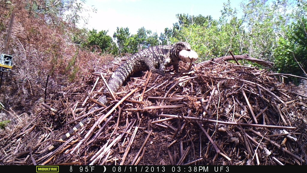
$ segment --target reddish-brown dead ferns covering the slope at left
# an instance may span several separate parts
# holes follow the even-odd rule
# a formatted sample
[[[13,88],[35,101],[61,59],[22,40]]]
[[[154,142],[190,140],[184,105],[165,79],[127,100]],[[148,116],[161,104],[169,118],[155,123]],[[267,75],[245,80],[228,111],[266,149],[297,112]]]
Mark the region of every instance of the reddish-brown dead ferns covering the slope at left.
[[[10,2],[0,0],[0,53],[13,56],[13,71],[3,75],[0,90],[1,107],[15,113],[1,110],[0,122],[10,121],[6,130],[24,126],[33,119],[35,105],[44,99],[48,75],[47,95],[99,71],[103,64],[113,59],[107,54],[99,55],[98,51],[80,49],[72,41],[76,28],[67,26],[61,19],[44,20],[44,14],[34,14],[27,8],[27,1],[15,0],[14,5]],[[8,52],[3,52],[13,11],[15,17],[7,43]]]

